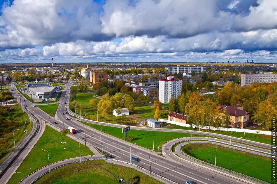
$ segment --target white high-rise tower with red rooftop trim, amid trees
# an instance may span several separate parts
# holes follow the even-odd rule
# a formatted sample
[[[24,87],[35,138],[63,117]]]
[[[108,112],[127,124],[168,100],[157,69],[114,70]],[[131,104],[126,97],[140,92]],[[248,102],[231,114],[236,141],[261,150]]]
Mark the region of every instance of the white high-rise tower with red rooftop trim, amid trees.
[[[159,101],[161,103],[169,103],[172,97],[176,99],[181,94],[182,79],[166,76],[166,79],[159,80]]]

